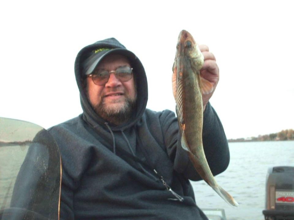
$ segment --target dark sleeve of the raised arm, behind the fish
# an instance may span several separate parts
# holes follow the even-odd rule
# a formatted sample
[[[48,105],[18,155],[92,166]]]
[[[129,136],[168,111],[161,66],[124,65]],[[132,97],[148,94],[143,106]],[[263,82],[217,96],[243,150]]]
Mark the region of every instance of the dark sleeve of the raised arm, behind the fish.
[[[202,180],[190,162],[187,151],[181,146],[181,134],[173,112],[164,117],[162,129],[168,155],[174,161],[174,170],[188,179]],[[213,175],[225,171],[230,160],[228,141],[220,119],[210,103],[206,105],[203,115],[202,139],[205,156]]]

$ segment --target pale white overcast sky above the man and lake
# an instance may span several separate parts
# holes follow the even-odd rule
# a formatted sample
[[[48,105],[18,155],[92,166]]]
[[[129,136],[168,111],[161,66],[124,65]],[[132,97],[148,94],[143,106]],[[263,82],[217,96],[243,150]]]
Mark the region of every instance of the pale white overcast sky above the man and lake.
[[[291,1],[2,1],[0,117],[49,128],[81,114],[74,61],[115,37],[145,67],[147,108],[175,111],[171,68],[179,32],[220,68],[211,105],[227,138],[294,129]]]

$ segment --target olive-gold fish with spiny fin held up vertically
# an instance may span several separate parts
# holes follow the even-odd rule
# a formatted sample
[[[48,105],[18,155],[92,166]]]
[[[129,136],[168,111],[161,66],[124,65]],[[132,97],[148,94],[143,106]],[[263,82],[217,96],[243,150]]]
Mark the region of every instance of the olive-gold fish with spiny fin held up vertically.
[[[203,103],[202,94],[213,91],[213,84],[200,75],[204,57],[192,35],[182,30],[179,34],[175,61],[172,67],[176,74],[176,113],[181,145],[202,179],[211,186],[228,204],[238,206],[234,198],[220,187],[207,163],[203,143]]]

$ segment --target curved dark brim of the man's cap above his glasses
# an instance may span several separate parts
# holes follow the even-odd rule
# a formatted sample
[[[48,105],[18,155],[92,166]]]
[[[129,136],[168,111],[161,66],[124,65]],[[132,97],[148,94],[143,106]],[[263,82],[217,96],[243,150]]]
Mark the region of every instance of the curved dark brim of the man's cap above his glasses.
[[[85,61],[85,66],[89,65],[89,67],[85,70],[85,75],[90,75],[104,57],[113,53],[126,56],[130,59],[131,62],[137,59],[133,52],[123,48],[114,48],[111,50],[101,51],[100,53],[96,53],[95,55],[89,57],[88,60]]]

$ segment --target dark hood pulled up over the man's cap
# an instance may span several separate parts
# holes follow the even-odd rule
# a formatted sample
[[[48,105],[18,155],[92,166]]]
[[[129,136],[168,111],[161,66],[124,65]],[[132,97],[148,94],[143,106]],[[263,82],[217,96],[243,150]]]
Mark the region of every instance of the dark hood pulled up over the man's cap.
[[[145,111],[147,100],[148,100],[148,86],[147,86],[146,73],[138,57],[136,57],[134,53],[126,50],[126,47],[123,46],[115,38],[109,38],[109,39],[97,41],[80,50],[75,60],[74,71],[75,71],[77,86],[80,91],[81,106],[83,109],[83,118],[93,127],[97,127],[98,125],[104,126],[104,123],[106,121],[102,119],[100,116],[98,116],[96,112],[93,110],[91,104],[88,101],[87,95],[85,94],[85,91],[83,89],[83,81],[85,80],[85,77],[86,77],[84,74],[85,70],[83,67],[83,63],[90,56],[90,54],[93,53],[93,51],[98,50],[100,48],[114,49],[113,53],[121,53],[123,55],[126,55],[126,57],[128,57],[131,61],[130,64],[133,68],[134,77],[136,78],[135,81],[137,84],[136,85],[137,86],[137,102],[136,102],[136,109],[133,112],[130,120],[118,126],[109,124],[111,126],[111,130],[113,131],[124,130],[136,124]],[[130,57],[131,55],[133,55],[133,57]]]

